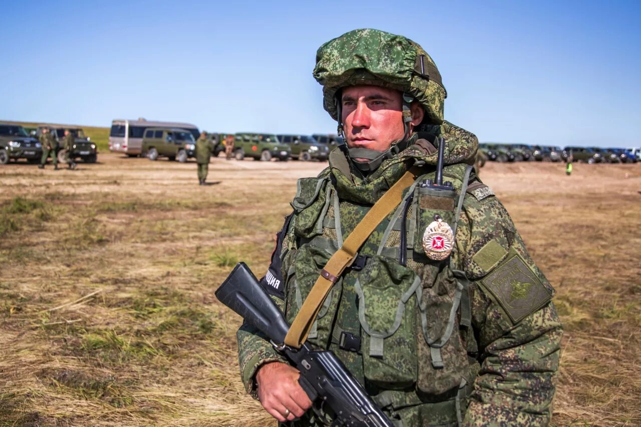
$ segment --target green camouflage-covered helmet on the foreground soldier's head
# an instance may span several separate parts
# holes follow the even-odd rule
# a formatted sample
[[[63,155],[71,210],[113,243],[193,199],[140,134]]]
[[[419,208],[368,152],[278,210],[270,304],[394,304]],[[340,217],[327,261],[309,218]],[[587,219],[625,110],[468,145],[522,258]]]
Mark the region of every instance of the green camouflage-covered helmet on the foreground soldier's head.
[[[354,29],[316,53],[314,78],[323,86],[325,110],[338,121],[338,90],[375,85],[400,90],[423,106],[427,121],[443,122],[447,92],[432,58],[409,38],[378,29]]]

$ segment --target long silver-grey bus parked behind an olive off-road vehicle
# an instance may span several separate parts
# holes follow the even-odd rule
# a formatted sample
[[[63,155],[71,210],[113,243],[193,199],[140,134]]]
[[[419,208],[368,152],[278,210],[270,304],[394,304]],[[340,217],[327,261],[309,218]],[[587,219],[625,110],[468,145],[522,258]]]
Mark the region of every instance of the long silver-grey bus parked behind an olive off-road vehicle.
[[[139,156],[142,152],[142,136],[147,128],[180,128],[194,135],[194,140],[200,137],[198,127],[191,123],[152,122],[142,118],[115,119],[109,132],[109,151],[125,153],[129,157]]]

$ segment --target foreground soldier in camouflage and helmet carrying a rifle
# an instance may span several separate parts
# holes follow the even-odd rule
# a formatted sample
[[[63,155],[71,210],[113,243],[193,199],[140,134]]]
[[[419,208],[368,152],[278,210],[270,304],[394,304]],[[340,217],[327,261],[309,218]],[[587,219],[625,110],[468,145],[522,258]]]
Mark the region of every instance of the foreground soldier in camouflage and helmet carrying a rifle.
[[[330,40],[316,61],[346,145],[299,180],[261,280],[292,324],[285,343],[331,349],[395,425],[547,425],[562,337],[553,289],[472,171],[478,139],[443,120],[434,62],[374,29]],[[451,186],[433,185],[439,138]],[[390,213],[354,231],[364,243],[353,262],[329,264],[376,210]],[[323,280],[326,298],[310,296]],[[331,418],[310,410],[298,371],[258,331],[241,326],[238,351],[247,391],[279,422]]]

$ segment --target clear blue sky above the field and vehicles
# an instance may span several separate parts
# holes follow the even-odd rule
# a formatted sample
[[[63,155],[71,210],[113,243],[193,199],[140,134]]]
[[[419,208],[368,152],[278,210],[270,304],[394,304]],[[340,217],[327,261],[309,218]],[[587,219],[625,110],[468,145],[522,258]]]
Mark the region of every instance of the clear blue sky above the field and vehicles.
[[[434,58],[481,141],[641,146],[641,1],[11,1],[0,119],[328,133],[316,49],[354,28]]]

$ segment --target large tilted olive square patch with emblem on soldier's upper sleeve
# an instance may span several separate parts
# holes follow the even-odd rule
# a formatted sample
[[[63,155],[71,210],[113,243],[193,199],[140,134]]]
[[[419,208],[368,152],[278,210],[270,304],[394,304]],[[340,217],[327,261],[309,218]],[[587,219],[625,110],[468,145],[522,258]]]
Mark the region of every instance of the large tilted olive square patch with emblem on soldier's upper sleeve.
[[[510,316],[513,324],[545,306],[552,298],[538,275],[521,256],[510,249],[508,256],[481,284]]]

